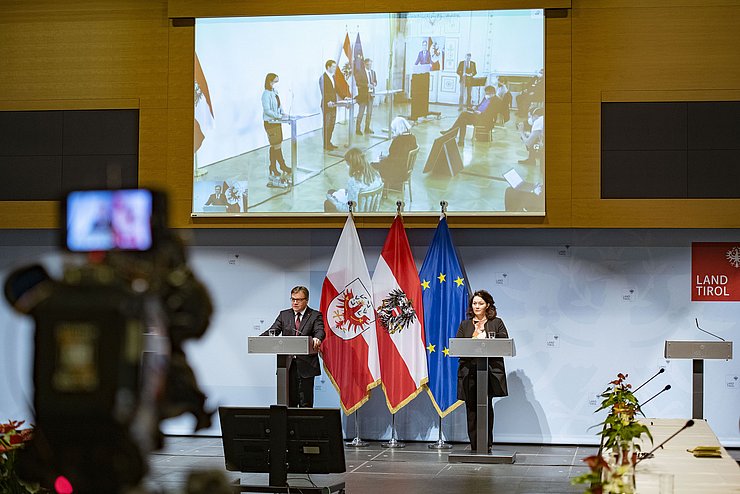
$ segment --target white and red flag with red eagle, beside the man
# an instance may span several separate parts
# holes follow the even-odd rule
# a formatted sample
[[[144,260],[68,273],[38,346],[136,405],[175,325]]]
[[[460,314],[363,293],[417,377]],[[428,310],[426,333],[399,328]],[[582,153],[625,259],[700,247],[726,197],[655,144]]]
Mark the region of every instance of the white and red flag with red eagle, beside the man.
[[[347,415],[360,408],[370,390],[380,384],[373,307],[370,275],[350,215],[321,288],[327,327],[321,354]]]

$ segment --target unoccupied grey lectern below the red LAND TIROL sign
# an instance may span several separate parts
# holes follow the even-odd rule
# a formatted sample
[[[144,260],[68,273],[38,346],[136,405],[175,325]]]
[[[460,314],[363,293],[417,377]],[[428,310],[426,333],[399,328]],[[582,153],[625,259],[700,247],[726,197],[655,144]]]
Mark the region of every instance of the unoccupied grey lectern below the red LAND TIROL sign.
[[[693,398],[691,418],[703,419],[704,415],[704,360],[731,360],[731,341],[678,341],[666,340],[664,356],[667,359],[693,360]]]

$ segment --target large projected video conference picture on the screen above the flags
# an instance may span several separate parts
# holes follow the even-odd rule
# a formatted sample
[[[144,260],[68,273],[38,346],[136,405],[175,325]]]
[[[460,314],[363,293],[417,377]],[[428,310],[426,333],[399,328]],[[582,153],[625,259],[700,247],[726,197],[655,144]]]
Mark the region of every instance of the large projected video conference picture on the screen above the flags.
[[[194,214],[545,213],[542,10],[198,19]]]

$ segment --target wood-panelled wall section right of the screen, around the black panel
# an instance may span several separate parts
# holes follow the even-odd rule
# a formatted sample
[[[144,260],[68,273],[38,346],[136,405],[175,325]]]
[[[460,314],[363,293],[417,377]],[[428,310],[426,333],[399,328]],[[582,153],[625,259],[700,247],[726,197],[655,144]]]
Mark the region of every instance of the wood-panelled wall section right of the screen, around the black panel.
[[[575,227],[740,226],[738,200],[602,200],[602,101],[736,100],[740,2],[574,0]]]

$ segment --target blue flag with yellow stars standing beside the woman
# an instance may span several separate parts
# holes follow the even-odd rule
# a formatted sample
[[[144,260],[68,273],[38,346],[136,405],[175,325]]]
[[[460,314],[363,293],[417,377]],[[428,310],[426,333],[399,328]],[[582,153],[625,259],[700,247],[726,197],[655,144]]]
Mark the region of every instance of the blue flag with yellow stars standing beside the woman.
[[[449,350],[468,307],[468,286],[442,218],[419,272],[424,301],[429,382],[427,390],[440,417],[463,404],[457,399],[457,357]]]

